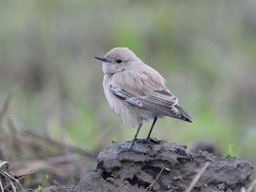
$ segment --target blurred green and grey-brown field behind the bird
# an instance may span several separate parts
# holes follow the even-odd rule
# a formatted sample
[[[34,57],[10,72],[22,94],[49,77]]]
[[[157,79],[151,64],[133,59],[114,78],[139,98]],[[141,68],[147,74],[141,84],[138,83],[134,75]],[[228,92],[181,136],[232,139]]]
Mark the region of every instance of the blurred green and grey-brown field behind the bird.
[[[160,119],[153,137],[188,150],[209,141],[223,155],[231,144],[234,156],[256,166],[255,6],[255,1],[0,1],[1,108],[17,89],[0,134],[10,131],[11,118],[16,129],[27,127],[87,151],[131,140],[136,129],[110,110],[102,63],[93,58],[128,47],[162,74],[193,117],[193,124]],[[143,124],[138,138],[147,136],[150,125]],[[29,146],[23,151],[20,160],[36,157]]]

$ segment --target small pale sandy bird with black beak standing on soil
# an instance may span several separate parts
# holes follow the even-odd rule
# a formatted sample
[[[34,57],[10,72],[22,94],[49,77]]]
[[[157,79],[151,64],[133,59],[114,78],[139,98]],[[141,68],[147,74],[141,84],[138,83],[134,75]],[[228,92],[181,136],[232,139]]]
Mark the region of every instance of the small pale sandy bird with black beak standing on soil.
[[[131,50],[116,47],[102,61],[104,72],[103,88],[111,109],[127,125],[139,125],[129,150],[132,149],[143,120],[154,122],[157,118],[172,116],[192,122],[191,116],[178,104],[178,99],[166,88],[164,78],[141,61]]]

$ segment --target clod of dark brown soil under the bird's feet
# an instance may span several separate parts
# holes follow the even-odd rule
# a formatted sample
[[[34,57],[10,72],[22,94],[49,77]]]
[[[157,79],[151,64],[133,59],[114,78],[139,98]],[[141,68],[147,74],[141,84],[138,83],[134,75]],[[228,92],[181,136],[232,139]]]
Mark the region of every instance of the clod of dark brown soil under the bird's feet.
[[[185,145],[151,141],[154,145],[136,141],[132,152],[122,152],[131,141],[112,143],[100,152],[95,172],[88,173],[72,191],[145,191],[162,164],[170,172],[163,171],[152,190],[184,191],[207,161],[211,164],[192,191],[240,191],[248,187],[253,167],[244,159],[208,152],[186,154]]]

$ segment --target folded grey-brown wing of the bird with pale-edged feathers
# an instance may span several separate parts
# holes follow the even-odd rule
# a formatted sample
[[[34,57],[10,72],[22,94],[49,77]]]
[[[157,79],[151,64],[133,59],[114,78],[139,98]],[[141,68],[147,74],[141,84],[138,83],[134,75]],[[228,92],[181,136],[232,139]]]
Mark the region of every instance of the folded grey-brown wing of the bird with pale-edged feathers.
[[[147,109],[157,115],[172,116],[180,120],[191,121],[191,117],[178,104],[178,99],[169,90],[155,90],[150,95],[136,96],[127,92],[124,88],[119,88],[111,83],[109,86],[111,92],[119,99],[125,100],[133,106]]]

